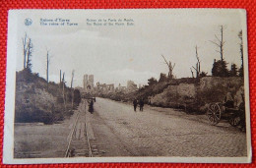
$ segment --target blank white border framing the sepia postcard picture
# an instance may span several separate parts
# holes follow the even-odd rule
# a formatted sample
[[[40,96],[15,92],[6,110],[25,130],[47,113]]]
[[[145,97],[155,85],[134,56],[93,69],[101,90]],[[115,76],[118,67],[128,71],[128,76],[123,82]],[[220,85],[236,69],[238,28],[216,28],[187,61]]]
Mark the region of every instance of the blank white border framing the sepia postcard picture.
[[[77,157],[77,158],[32,158],[15,159],[14,149],[14,112],[15,112],[15,83],[16,83],[16,55],[17,49],[17,15],[20,12],[46,11],[46,10],[10,10],[8,17],[8,45],[7,45],[7,73],[6,73],[6,94],[5,94],[5,116],[4,116],[4,146],[3,163],[4,164],[35,164],[35,163],[98,163],[98,162],[173,162],[173,163],[250,163],[252,159],[251,149],[251,129],[250,129],[250,104],[249,104],[249,75],[248,75],[248,48],[247,48],[247,26],[246,11],[243,9],[121,9],[121,10],[86,10],[98,13],[115,13],[125,11],[184,11],[191,10],[239,10],[242,18],[243,44],[244,44],[244,90],[245,90],[245,108],[246,108],[246,140],[247,157]],[[54,11],[54,10],[51,10]],[[65,10],[75,11],[75,10]],[[80,10],[78,10],[80,11]],[[8,133],[8,134],[7,134]]]

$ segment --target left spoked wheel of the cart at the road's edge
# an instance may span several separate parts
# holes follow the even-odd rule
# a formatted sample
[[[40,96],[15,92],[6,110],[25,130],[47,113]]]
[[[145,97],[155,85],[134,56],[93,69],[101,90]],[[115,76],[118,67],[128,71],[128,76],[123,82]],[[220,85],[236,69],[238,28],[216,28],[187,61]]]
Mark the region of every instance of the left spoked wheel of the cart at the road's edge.
[[[222,116],[222,108],[218,103],[210,104],[207,110],[208,120],[212,125],[217,125]]]

